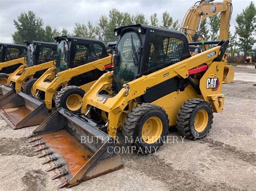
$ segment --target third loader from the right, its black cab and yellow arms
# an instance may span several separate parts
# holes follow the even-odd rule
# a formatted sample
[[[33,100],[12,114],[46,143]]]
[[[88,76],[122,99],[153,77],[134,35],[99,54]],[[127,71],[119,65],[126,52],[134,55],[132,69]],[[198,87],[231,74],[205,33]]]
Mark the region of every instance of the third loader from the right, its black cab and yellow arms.
[[[57,50],[56,43],[45,43],[41,41],[26,42],[26,64],[20,66],[8,78],[8,86],[15,89],[16,93],[23,91],[31,95],[33,83],[54,66],[54,54]]]

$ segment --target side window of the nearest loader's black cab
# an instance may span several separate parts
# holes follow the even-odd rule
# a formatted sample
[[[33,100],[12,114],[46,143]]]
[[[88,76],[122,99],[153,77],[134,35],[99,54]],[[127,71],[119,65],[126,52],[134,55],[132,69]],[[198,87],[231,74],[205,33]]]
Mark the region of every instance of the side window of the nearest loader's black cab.
[[[184,43],[180,39],[156,36],[151,42],[147,70],[161,69],[181,60]]]

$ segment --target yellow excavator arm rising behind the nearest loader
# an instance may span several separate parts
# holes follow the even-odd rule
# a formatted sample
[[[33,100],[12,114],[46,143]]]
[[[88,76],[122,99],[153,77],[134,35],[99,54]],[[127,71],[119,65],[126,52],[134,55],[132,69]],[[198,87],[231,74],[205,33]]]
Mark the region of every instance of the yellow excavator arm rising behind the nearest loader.
[[[232,0],[224,0],[223,2],[205,0],[200,1],[199,4],[196,3],[187,11],[181,25],[181,31],[187,35],[189,42],[200,41],[195,34],[198,34],[201,22],[218,13],[220,13],[219,40],[227,40],[232,14]]]

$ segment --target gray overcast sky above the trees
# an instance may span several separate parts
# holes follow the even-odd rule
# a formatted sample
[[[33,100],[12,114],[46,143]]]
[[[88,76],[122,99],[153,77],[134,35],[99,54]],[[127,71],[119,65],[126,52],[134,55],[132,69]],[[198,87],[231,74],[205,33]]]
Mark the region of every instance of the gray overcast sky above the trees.
[[[174,19],[181,23],[186,11],[197,0],[0,0],[0,42],[12,43],[11,34],[16,29],[14,19],[21,12],[31,10],[38,17],[43,18],[44,26],[50,25],[54,29],[62,30],[63,27],[73,32],[76,22],[96,24],[100,15],[108,15],[109,10],[116,8],[133,15],[144,13],[147,20],[154,12],[158,14],[161,21],[161,13],[168,11]],[[221,0],[218,0],[221,1]],[[234,31],[235,17],[245,9],[250,2],[255,0],[233,0],[233,15],[231,20],[231,31]]]

